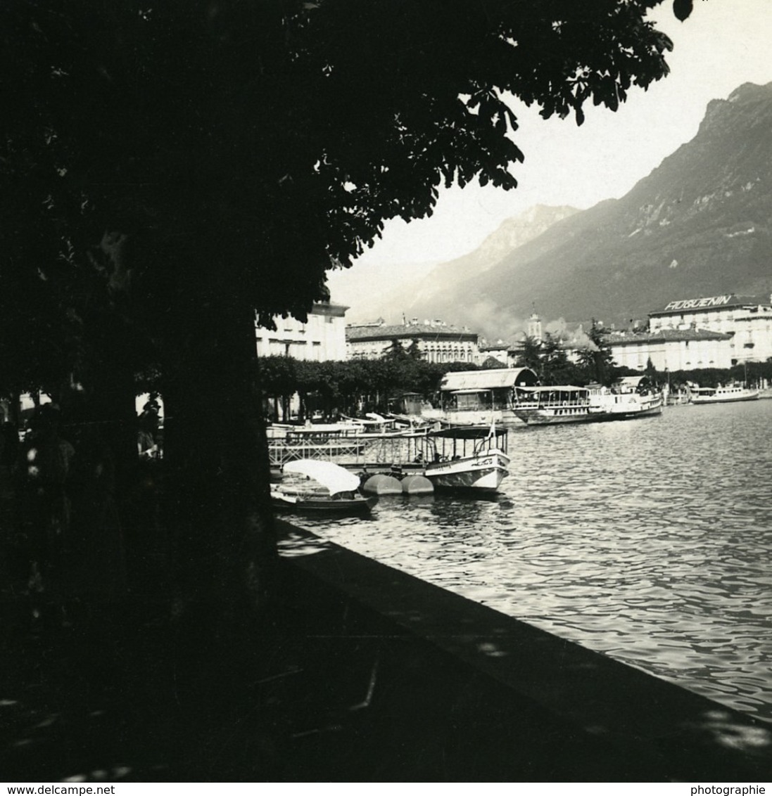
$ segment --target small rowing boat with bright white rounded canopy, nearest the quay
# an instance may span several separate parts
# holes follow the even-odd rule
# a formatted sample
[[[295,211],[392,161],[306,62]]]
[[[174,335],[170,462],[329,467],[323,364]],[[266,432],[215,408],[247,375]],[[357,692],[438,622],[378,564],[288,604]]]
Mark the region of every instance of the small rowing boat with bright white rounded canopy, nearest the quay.
[[[359,492],[358,475],[334,462],[299,459],[287,462],[283,473],[290,478],[271,485],[271,503],[275,509],[363,514],[369,513],[376,501]]]

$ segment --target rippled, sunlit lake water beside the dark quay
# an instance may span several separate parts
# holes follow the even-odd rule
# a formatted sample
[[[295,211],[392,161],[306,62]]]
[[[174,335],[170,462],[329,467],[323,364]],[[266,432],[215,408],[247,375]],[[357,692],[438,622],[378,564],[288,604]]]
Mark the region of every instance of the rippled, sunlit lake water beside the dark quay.
[[[494,501],[323,537],[772,721],[772,400],[512,431]]]

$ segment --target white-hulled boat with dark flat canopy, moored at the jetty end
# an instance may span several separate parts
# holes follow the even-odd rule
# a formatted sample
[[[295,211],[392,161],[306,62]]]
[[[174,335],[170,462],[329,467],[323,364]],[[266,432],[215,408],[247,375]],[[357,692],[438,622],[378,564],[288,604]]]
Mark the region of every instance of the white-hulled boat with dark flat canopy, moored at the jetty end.
[[[409,435],[409,458],[435,490],[495,493],[506,478],[507,431],[491,426],[457,426]]]

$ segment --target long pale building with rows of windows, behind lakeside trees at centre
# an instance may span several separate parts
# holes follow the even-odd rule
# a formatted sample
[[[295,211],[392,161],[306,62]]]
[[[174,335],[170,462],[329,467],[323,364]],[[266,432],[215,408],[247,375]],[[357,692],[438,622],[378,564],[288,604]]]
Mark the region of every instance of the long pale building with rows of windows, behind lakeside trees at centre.
[[[380,359],[395,342],[405,350],[417,345],[421,358],[428,362],[477,360],[477,335],[466,327],[458,329],[439,320],[419,323],[413,318],[410,322],[387,326],[381,319],[346,329],[349,359]]]

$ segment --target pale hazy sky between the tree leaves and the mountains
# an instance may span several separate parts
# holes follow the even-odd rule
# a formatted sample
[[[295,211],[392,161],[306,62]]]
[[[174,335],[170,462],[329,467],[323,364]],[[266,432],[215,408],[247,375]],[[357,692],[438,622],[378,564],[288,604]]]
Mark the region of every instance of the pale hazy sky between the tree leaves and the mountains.
[[[582,127],[515,105],[515,141],[525,154],[512,168],[519,187],[449,189],[430,219],[390,222],[350,274],[331,274],[333,300],[354,303],[362,277],[377,279],[384,266],[445,262],[470,252],[505,218],[533,205],[586,209],[624,196],[696,135],[710,100],[726,99],[743,83],[772,82],[772,0],[695,0],[694,6],[685,22],[673,17],[671,0],[657,9],[659,27],[674,45],[666,78],[647,92],[631,89],[616,113],[590,103]]]

